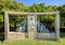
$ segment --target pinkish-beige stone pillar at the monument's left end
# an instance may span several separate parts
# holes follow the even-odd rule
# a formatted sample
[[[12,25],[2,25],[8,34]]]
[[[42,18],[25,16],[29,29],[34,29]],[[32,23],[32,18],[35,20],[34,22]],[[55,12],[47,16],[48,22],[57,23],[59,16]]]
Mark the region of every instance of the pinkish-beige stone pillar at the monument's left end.
[[[4,40],[8,40],[9,33],[9,15],[8,12],[4,12]]]

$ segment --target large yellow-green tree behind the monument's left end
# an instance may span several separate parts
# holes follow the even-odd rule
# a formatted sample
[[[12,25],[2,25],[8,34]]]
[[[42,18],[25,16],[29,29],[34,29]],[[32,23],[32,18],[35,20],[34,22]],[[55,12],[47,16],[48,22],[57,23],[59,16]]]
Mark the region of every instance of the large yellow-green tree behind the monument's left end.
[[[0,0],[0,29],[4,27],[4,11],[21,11],[26,12],[28,10],[23,3],[18,3],[15,0]],[[14,24],[14,17],[11,17],[10,26]],[[1,27],[2,26],[2,27]],[[3,29],[3,28],[2,28]],[[1,29],[1,30],[2,30]]]

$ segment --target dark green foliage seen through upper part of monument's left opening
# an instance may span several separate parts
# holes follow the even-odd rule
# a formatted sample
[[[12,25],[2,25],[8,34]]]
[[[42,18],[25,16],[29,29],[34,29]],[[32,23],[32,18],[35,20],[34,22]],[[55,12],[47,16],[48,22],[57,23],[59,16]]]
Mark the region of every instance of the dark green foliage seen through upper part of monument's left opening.
[[[10,26],[14,27],[14,25],[16,24],[22,24],[24,21],[24,19],[26,18],[26,16],[9,16],[10,18]]]

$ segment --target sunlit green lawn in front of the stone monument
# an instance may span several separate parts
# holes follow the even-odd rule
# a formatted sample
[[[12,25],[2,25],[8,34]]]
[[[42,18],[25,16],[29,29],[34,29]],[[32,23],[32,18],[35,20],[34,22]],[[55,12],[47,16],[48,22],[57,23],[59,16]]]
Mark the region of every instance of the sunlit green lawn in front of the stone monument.
[[[65,33],[61,33],[60,41],[36,41],[36,40],[17,40],[2,43],[0,45],[65,45]]]

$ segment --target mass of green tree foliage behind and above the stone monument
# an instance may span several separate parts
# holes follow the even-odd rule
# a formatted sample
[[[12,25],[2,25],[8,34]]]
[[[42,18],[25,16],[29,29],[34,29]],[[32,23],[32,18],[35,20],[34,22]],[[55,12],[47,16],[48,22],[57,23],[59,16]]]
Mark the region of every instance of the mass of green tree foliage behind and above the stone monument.
[[[65,5],[56,6],[56,5],[48,5],[46,6],[44,3],[36,4],[34,3],[30,6],[26,6],[23,3],[16,2],[15,0],[0,0],[0,22],[3,25],[3,16],[4,11],[17,11],[17,12],[52,12],[52,11],[61,11],[61,24],[65,22]],[[21,17],[20,17],[21,18]],[[21,22],[21,19],[17,18],[16,21]],[[20,19],[20,20],[18,20]],[[41,20],[44,19],[47,21],[53,21],[53,16],[43,16]],[[13,26],[15,22],[14,17],[10,17],[10,26]],[[61,25],[61,26],[62,26]]]

